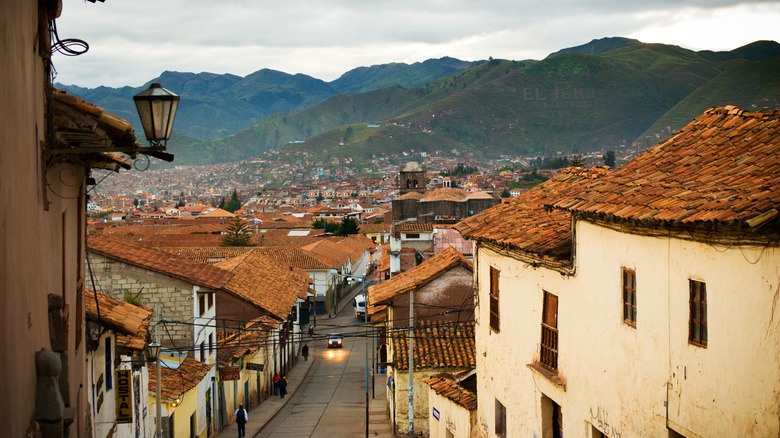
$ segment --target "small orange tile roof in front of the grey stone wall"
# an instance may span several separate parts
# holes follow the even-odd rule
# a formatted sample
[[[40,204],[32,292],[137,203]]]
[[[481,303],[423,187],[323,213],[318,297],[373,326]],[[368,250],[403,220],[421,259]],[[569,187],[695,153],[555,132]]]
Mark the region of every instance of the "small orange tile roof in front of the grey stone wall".
[[[97,295],[97,300],[95,296]],[[116,344],[132,350],[143,350],[152,310],[111,298],[91,290],[84,291],[87,318],[117,333]]]

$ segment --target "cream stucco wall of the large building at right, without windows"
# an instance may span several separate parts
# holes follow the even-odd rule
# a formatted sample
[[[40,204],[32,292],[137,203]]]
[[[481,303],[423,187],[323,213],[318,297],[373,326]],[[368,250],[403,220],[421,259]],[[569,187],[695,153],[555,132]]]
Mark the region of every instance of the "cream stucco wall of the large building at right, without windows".
[[[561,406],[567,437],[588,437],[592,427],[607,436],[666,436],[667,418],[686,436],[777,435],[777,248],[643,237],[584,222],[576,236],[574,276],[479,251],[482,435],[494,433],[498,399],[508,436],[548,436],[542,394]],[[501,270],[498,334],[488,327],[491,265]],[[636,270],[636,328],[623,322],[621,267]],[[689,279],[707,287],[706,348],[688,343]],[[539,358],[544,291],[558,296],[565,389],[526,367]]]

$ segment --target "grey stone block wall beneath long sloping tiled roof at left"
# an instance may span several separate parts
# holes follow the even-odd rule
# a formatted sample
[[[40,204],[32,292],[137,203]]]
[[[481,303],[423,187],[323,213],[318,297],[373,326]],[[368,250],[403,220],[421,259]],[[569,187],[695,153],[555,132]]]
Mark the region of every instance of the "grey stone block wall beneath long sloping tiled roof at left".
[[[144,306],[156,309],[155,306],[159,305],[163,320],[186,323],[160,326],[160,343],[164,347],[192,347],[194,330],[190,324],[195,319],[195,303],[191,283],[92,252],[89,253],[89,263],[99,292],[124,300],[125,292],[129,291],[138,295],[138,300]],[[88,287],[92,288],[92,285],[88,284]],[[155,313],[149,323],[150,333],[156,323]]]

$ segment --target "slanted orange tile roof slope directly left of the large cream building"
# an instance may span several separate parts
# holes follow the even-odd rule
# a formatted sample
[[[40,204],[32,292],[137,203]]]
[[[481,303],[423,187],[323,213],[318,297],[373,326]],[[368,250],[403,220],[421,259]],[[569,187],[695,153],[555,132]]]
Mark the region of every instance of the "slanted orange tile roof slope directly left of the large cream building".
[[[374,309],[375,306],[389,304],[398,295],[417,290],[456,266],[463,266],[468,270],[474,269],[471,261],[450,246],[415,266],[414,269],[401,272],[389,280],[370,286],[368,289],[369,314],[378,311],[378,309]]]

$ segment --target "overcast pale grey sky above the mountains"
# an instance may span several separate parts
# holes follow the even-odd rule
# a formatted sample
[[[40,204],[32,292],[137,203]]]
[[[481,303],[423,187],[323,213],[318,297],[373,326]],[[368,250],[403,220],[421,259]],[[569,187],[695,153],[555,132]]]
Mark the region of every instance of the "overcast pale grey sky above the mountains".
[[[780,1],[63,0],[57,82],[140,86],[165,70],[246,76],[262,68],[331,81],[360,66],[451,56],[543,59],[623,36],[692,50],[780,42]]]

